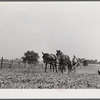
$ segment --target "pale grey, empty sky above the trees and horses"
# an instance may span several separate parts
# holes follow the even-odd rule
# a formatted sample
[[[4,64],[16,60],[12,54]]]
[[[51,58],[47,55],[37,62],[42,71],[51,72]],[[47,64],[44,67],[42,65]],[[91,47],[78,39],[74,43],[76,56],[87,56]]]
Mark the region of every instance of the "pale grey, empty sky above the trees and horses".
[[[100,2],[0,2],[0,56],[27,50],[100,61]]]

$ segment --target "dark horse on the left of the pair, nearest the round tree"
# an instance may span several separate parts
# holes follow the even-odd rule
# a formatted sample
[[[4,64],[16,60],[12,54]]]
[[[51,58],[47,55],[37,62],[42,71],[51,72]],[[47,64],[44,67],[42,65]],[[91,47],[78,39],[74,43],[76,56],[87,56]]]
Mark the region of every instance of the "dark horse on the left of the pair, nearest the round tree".
[[[53,72],[54,69],[56,69],[57,72],[57,67],[56,67],[56,55],[54,54],[48,54],[48,53],[43,53],[43,62],[45,63],[45,72],[47,70],[47,65],[50,64],[50,71],[51,71],[51,66],[53,67]]]

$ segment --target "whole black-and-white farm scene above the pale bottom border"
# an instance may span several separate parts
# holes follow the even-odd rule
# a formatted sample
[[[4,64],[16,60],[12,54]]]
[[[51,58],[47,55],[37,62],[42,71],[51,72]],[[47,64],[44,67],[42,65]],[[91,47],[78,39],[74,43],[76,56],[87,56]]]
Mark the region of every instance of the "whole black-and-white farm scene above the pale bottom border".
[[[100,2],[0,2],[0,89],[100,89]]]

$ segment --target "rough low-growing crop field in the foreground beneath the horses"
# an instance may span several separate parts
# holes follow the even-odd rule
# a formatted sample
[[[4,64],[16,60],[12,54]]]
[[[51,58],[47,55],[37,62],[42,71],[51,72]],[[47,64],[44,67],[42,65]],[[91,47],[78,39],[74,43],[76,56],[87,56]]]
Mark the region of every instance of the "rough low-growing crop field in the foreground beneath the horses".
[[[1,89],[99,89],[100,65],[79,66],[76,73],[44,72],[44,65],[23,65],[0,69]]]

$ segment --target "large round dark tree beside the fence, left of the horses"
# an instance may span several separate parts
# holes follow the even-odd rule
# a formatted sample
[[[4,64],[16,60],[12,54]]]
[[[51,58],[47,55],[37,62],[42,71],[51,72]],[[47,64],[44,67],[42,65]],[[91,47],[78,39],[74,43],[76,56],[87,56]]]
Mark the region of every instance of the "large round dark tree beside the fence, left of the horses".
[[[28,63],[28,64],[33,64],[38,62],[39,59],[39,55],[38,53],[34,52],[34,51],[27,51],[24,53],[24,57],[22,57],[22,60],[24,63]]]

